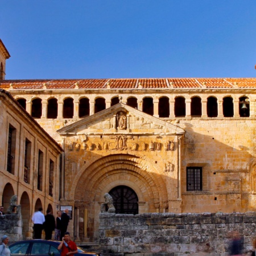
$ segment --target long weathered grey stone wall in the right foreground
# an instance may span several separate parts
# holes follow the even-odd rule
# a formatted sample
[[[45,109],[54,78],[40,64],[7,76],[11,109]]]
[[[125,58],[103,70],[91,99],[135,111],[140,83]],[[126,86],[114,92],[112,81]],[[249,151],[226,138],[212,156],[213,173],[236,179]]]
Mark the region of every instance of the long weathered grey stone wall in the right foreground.
[[[256,213],[100,213],[104,255],[228,255],[231,231],[243,238],[243,251],[253,249]]]

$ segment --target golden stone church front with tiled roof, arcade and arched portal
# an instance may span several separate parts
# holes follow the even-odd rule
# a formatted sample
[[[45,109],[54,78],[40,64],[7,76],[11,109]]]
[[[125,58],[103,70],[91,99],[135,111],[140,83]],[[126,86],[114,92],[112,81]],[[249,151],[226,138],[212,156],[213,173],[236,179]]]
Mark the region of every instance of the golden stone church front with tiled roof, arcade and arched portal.
[[[256,79],[1,80],[64,149],[76,240],[118,213],[255,210]]]

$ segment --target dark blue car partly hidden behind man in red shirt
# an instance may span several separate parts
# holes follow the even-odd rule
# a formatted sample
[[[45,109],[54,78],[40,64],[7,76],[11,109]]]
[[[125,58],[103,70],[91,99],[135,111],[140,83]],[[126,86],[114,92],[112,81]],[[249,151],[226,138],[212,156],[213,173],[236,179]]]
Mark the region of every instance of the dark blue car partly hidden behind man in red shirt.
[[[57,249],[59,241],[50,240],[26,240],[12,243],[9,248],[12,256],[60,256]],[[101,253],[86,253],[80,247],[77,247],[78,253],[75,256],[102,256]]]

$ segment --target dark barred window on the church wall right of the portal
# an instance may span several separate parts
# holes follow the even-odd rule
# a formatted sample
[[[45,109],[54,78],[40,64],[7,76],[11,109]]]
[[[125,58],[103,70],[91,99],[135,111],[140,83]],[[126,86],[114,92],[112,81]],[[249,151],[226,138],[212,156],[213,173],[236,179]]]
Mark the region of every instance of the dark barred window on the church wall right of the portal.
[[[202,167],[187,167],[187,191],[202,191]]]

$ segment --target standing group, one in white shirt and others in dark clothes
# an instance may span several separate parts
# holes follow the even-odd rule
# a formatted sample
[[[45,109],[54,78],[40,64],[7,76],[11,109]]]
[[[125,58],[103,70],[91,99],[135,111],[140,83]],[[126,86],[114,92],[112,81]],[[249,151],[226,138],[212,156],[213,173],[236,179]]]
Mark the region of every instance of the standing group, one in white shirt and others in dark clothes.
[[[64,237],[64,233],[67,232],[69,216],[68,209],[65,209],[63,213],[60,210],[57,211],[57,217],[52,215],[51,210],[47,210],[46,216],[43,214],[43,208],[39,208],[32,217],[34,222],[34,238],[41,239],[42,231],[46,233],[46,240],[52,239],[52,232],[55,230],[55,240],[61,241]]]

